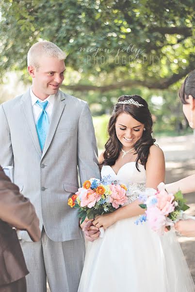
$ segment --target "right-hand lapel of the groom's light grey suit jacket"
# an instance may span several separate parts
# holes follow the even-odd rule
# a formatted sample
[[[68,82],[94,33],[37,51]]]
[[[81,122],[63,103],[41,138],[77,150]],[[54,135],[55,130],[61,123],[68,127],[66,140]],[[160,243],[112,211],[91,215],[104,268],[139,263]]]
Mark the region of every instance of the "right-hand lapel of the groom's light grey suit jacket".
[[[65,94],[63,94],[61,91],[58,91],[58,94],[56,96],[56,100],[53,106],[53,110],[52,110],[52,116],[51,116],[51,120],[49,123],[49,131],[48,131],[48,135],[46,138],[46,142],[45,142],[45,146],[43,148],[43,154],[42,154],[42,158],[44,157],[44,155],[46,154],[51,141],[53,139],[53,136],[55,134],[56,128],[58,126],[58,123],[60,121],[61,115],[63,113],[63,110],[65,108]]]

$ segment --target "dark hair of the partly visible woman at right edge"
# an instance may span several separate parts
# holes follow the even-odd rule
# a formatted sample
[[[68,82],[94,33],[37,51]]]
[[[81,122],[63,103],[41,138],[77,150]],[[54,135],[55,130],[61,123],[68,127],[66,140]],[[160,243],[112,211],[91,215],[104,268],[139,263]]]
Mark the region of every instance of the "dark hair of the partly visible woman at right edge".
[[[189,95],[195,98],[195,70],[188,74],[179,90],[179,98],[183,105],[188,103],[186,99]]]

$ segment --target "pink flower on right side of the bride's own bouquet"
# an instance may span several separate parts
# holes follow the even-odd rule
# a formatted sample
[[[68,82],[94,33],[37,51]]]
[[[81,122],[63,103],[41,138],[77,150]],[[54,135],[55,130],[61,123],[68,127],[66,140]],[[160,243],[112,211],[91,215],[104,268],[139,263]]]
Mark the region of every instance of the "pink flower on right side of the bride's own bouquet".
[[[119,184],[110,184],[109,187],[112,191],[110,203],[112,203],[113,207],[117,209],[119,205],[123,205],[128,200],[126,197],[126,191]]]

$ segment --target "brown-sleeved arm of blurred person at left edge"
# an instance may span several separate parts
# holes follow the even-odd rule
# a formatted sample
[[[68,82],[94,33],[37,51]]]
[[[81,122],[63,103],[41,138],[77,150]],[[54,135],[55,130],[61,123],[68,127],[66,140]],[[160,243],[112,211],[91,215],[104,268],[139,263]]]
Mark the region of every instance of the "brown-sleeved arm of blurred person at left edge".
[[[33,241],[41,237],[39,219],[33,204],[11,183],[0,166],[0,219],[12,227],[26,230]]]

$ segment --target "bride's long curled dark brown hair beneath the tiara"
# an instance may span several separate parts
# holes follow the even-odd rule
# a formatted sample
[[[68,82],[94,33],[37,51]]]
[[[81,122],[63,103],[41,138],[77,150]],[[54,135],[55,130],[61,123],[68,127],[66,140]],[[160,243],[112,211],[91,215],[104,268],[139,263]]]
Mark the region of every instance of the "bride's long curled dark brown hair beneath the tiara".
[[[148,105],[146,100],[144,100],[139,95],[122,95],[118,98],[119,101],[125,101],[132,98],[135,102],[137,101],[139,104],[142,104],[143,107],[137,107],[136,105],[132,104],[116,104],[114,106],[113,114],[109,120],[108,124],[108,134],[109,139],[105,144],[105,151],[103,153],[104,160],[100,164],[100,167],[102,165],[114,165],[115,161],[117,160],[119,153],[122,148],[121,142],[118,140],[116,136],[115,131],[115,123],[116,119],[121,113],[128,113],[131,117],[133,117],[138,122],[144,124],[144,127],[146,128],[145,131],[143,131],[142,137],[134,144],[134,148],[137,154],[136,159],[136,168],[138,171],[138,162],[145,166],[146,168],[146,162],[149,155],[149,148],[154,144],[156,141],[152,138],[152,116],[148,109]]]

